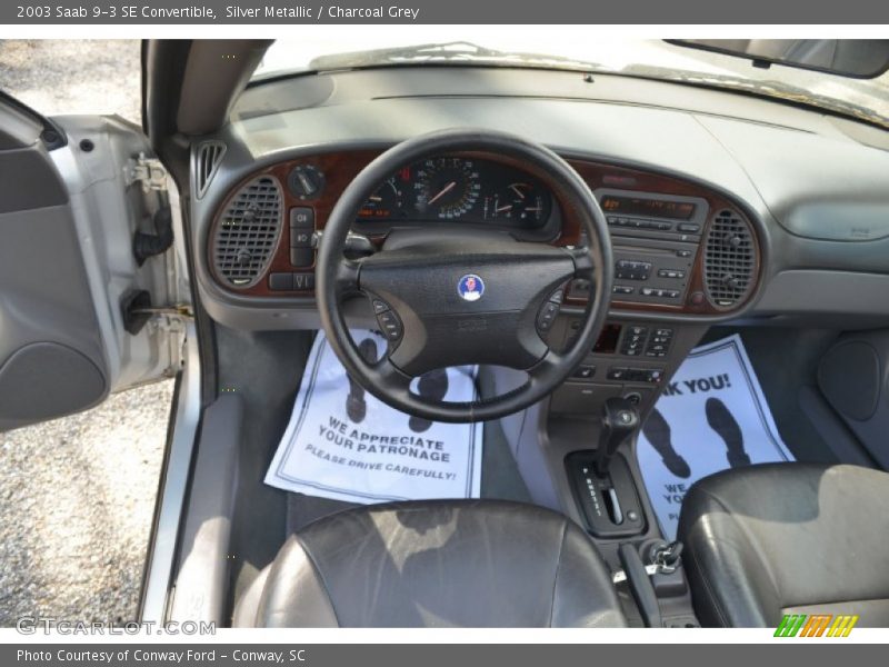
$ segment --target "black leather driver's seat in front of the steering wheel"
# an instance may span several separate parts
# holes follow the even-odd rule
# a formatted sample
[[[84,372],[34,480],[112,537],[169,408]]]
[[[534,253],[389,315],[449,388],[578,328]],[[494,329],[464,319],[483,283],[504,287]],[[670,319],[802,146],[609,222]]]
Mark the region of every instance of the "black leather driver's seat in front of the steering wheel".
[[[530,505],[350,509],[291,536],[239,601],[241,627],[623,627],[587,535]]]

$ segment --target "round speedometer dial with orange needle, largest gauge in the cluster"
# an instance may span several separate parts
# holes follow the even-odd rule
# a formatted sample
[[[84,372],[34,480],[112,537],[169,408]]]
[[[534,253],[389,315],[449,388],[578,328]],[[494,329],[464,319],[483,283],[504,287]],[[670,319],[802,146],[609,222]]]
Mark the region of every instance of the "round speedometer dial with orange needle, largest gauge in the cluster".
[[[479,200],[481,183],[472,160],[430,158],[416,171],[417,211],[441,220],[456,220],[471,211]]]

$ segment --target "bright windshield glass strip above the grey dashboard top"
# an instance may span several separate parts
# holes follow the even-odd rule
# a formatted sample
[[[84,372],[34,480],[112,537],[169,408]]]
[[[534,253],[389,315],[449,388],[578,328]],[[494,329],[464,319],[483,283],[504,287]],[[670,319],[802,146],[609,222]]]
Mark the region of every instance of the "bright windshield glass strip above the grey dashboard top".
[[[669,44],[660,40],[592,38],[587,28],[411,26],[398,30],[318,26],[279,40],[254,80],[287,73],[422,63],[545,67],[622,73],[747,90],[805,102],[889,127],[889,72],[856,80]],[[347,30],[347,28],[350,28]]]

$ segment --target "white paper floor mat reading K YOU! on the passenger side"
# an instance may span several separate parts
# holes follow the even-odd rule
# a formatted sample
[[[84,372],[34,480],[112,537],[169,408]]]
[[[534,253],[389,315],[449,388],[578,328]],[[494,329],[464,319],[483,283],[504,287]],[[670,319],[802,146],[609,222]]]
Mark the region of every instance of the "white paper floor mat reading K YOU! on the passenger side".
[[[739,336],[691,351],[642,426],[637,455],[669,539],[696,480],[727,468],[793,460]]]

